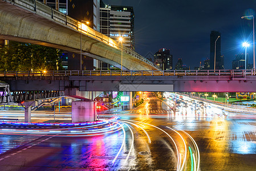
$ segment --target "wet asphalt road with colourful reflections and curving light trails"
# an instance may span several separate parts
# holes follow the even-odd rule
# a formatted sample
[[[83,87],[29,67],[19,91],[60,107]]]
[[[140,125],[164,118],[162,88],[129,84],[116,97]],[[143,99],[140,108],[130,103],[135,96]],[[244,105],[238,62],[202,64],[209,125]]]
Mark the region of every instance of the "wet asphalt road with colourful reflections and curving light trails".
[[[198,161],[199,170],[256,170],[255,115],[193,104],[173,112],[153,94],[144,99],[135,111],[101,115],[120,115],[125,136],[0,132],[0,170],[197,170]]]

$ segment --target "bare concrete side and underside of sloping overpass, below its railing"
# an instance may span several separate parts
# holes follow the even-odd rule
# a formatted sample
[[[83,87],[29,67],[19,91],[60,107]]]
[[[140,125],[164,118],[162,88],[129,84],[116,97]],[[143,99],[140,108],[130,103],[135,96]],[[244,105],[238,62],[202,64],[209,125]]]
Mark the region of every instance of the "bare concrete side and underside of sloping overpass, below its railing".
[[[14,5],[12,3],[0,0],[0,39],[50,46],[80,54],[78,23],[74,23],[74,25],[77,24],[76,28],[68,26],[67,19],[72,21],[68,17],[66,17],[66,25],[56,22],[55,18],[58,17],[56,11],[53,13],[56,13],[56,16],[52,15],[54,19],[51,15],[47,18],[42,12],[42,14],[39,13],[38,9],[41,8],[51,13],[51,8],[38,1],[36,1],[36,11],[25,10],[18,7],[17,3]],[[121,51],[119,48],[111,47],[103,40],[86,34],[82,34],[82,54],[120,67]],[[128,70],[157,70],[127,52],[123,53],[123,67]]]

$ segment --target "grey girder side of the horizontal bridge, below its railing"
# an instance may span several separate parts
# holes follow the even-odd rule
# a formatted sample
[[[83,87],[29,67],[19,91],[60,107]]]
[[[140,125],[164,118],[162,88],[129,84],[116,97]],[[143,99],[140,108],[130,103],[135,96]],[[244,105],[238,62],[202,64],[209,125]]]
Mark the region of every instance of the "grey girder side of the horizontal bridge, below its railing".
[[[256,92],[255,76],[43,76],[1,78],[11,91],[174,91],[174,92]]]

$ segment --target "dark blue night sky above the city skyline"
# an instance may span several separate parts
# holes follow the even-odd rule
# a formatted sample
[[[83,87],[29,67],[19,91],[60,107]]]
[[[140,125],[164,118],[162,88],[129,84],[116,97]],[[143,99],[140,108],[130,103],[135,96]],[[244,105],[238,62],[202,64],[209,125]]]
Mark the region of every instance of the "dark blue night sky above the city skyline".
[[[231,69],[235,55],[245,52],[245,40],[251,43],[247,60],[253,63],[253,19],[241,17],[255,14],[255,0],[103,1],[134,7],[135,51],[140,55],[151,56],[164,47],[173,55],[173,67],[182,58],[193,70],[210,58],[210,31],[216,30],[221,32],[225,69]]]

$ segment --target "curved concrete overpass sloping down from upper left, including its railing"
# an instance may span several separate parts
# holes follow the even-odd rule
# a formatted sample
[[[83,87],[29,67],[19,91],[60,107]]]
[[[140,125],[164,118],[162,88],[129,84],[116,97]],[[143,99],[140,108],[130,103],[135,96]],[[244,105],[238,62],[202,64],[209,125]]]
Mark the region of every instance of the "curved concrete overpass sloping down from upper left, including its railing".
[[[81,29],[82,27],[82,29]],[[121,67],[121,43],[34,0],[0,0],[0,39],[50,46]],[[152,62],[123,47],[123,68],[159,70]],[[78,68],[79,69],[79,68]]]

